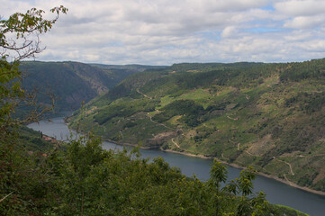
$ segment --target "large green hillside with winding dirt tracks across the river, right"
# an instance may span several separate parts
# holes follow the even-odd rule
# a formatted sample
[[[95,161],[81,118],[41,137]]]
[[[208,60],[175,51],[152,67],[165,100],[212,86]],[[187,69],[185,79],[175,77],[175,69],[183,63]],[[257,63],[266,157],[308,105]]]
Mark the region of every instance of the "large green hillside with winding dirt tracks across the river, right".
[[[325,58],[177,64],[129,76],[71,127],[120,143],[217,157],[325,191]]]

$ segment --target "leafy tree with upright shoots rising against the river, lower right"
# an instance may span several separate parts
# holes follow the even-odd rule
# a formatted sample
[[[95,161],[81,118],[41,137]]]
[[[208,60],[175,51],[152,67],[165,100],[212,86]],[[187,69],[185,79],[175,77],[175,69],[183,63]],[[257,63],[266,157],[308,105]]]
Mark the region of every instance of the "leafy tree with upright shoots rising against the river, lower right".
[[[215,193],[215,214],[218,215],[266,215],[269,212],[266,195],[263,192],[253,195],[255,170],[252,167],[240,172],[239,178],[227,181],[227,168],[213,161],[209,185]],[[225,184],[221,187],[221,184]]]

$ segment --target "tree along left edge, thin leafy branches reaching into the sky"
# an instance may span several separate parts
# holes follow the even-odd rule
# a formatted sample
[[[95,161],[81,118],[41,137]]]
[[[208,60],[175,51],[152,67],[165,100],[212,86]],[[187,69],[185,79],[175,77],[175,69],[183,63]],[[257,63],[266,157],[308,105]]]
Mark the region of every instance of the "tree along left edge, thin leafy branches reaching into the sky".
[[[59,14],[68,9],[59,6],[50,10],[52,20],[43,18],[43,10],[32,8],[25,14],[16,13],[8,19],[0,17],[0,214],[22,215],[32,211],[28,196],[37,185],[35,167],[21,146],[17,145],[17,129],[23,123],[37,121],[40,113],[33,111],[23,121],[13,117],[15,108],[33,98],[21,85],[19,63],[41,52],[40,34],[50,31]],[[23,190],[24,189],[24,190]],[[12,199],[9,199],[12,198]],[[9,201],[10,200],[10,201]],[[14,208],[13,203],[15,203]]]

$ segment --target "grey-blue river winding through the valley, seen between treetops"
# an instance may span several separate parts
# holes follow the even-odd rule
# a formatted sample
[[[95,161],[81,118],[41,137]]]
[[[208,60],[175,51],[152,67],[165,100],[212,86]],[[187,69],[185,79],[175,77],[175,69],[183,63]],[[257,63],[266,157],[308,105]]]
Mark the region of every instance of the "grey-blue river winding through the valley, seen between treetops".
[[[40,123],[32,123],[28,125],[33,130],[40,130],[44,134],[55,137],[60,140],[67,139],[70,135],[67,125],[62,118],[54,118],[51,121],[41,121]],[[77,133],[72,131],[74,136]],[[119,148],[122,146],[111,142],[103,143],[104,149]],[[131,148],[131,147],[127,147]],[[140,149],[141,157],[164,157],[170,166],[177,166],[181,169],[184,175],[196,175],[201,180],[209,178],[210,165],[212,159],[203,159],[199,157],[188,157],[185,155],[163,152],[154,149]],[[228,167],[229,179],[234,179],[239,176],[240,169]],[[312,216],[325,215],[325,196],[302,191],[287,184],[275,181],[274,179],[266,178],[257,175],[254,180],[254,191],[263,191],[266,193],[266,200],[275,204],[290,206],[293,209],[308,213]]]

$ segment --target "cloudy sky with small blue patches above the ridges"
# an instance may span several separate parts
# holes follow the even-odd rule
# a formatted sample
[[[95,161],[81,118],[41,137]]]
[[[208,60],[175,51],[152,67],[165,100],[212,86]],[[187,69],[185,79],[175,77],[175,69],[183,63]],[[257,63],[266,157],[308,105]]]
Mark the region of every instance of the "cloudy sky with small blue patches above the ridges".
[[[0,0],[0,15],[63,4],[42,61],[172,65],[325,57],[324,0]]]

